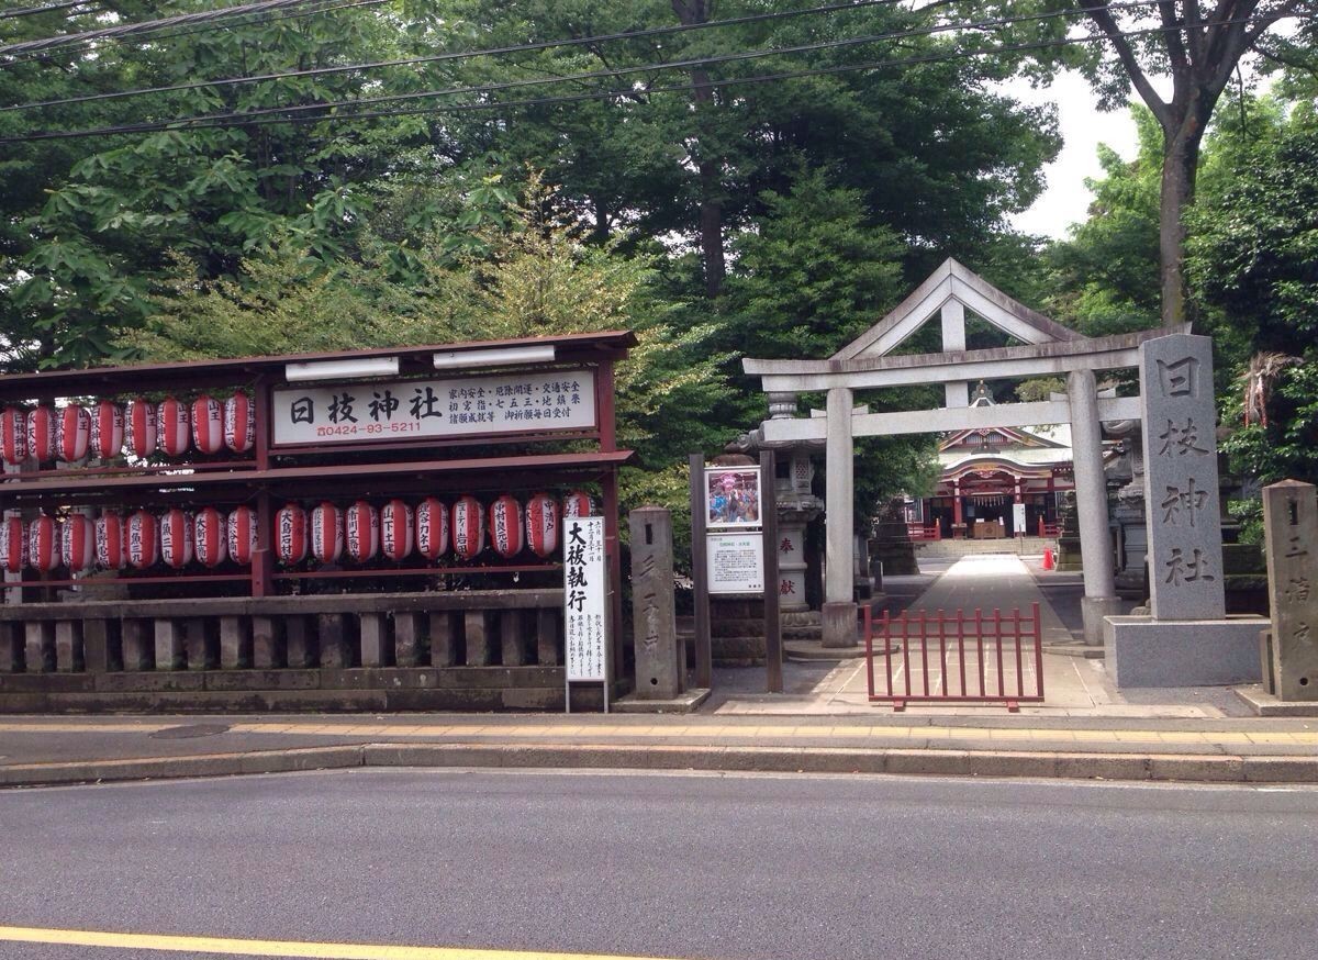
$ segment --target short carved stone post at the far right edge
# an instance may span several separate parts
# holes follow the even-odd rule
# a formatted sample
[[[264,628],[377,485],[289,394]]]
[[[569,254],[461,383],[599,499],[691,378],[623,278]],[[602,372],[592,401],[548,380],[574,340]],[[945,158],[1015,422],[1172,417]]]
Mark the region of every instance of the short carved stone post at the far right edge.
[[[1284,480],[1263,489],[1272,678],[1282,700],[1318,700],[1318,500],[1313,484]]]

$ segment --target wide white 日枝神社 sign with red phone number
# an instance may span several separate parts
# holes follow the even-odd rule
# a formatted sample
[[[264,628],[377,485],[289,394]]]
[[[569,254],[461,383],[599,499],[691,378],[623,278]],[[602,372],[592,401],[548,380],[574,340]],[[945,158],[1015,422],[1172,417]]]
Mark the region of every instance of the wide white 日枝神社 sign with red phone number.
[[[593,430],[594,372],[283,386],[270,422],[275,446]]]

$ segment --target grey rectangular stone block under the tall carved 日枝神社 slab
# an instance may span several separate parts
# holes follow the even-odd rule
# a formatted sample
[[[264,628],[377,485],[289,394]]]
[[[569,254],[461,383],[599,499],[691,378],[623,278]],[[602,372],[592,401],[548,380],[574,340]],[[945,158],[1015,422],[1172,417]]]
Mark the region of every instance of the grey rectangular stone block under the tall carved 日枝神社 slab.
[[[1257,683],[1259,630],[1264,617],[1153,620],[1107,617],[1104,666],[1118,690],[1127,687],[1214,687]]]

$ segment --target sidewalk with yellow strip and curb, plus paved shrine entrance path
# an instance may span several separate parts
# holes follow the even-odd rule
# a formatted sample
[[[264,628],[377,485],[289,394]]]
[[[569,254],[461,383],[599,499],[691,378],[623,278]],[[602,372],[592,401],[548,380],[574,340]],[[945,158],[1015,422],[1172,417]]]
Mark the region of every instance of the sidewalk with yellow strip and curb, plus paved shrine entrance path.
[[[1078,579],[1039,578],[1015,556],[973,556],[919,596],[892,583],[890,597],[928,611],[1037,600],[1045,645],[1069,642]],[[774,695],[758,692],[762,669],[717,671],[716,695],[689,716],[8,717],[0,786],[376,765],[1318,783],[1318,719],[1248,716],[1222,688],[1123,696],[1101,661],[1045,655],[1048,699],[1019,715],[1000,705],[894,713],[866,702],[863,659],[786,667],[787,692]]]

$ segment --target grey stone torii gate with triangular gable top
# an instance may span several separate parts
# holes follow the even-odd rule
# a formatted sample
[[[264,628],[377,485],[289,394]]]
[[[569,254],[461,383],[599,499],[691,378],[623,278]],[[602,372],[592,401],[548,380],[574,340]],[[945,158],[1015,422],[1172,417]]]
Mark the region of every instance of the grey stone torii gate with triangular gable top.
[[[967,351],[966,310],[1025,345]],[[942,352],[892,353],[936,314]],[[1188,324],[1120,336],[1081,336],[1014,301],[956,260],[948,260],[892,313],[828,360],[743,360],[746,373],[760,377],[768,394],[770,419],[760,427],[764,440],[826,444],[824,645],[857,642],[857,605],[851,600],[855,436],[1046,423],[1072,427],[1085,566],[1085,642],[1101,645],[1103,617],[1116,612],[1101,423],[1137,421],[1141,410],[1139,397],[1099,397],[1094,373],[1135,368],[1141,343],[1180,332],[1188,332]],[[1068,398],[970,406],[971,382],[1044,376],[1065,376]],[[870,413],[854,404],[858,389],[925,384],[944,385],[944,406]],[[816,390],[828,393],[826,413],[816,410],[797,417],[797,394]]]

